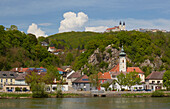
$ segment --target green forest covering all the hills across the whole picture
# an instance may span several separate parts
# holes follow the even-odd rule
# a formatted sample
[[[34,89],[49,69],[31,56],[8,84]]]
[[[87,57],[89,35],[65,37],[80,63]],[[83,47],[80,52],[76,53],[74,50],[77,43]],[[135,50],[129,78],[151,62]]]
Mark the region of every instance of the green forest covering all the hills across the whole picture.
[[[41,42],[49,43],[62,49],[64,54],[53,55]],[[170,69],[170,33],[121,31],[110,33],[95,32],[65,32],[48,37],[39,37],[25,34],[15,25],[10,28],[0,26],[0,70],[10,70],[14,67],[48,67],[71,65],[74,70],[80,70],[88,63],[89,56],[99,48],[101,52],[105,47],[112,45],[120,49],[123,45],[131,63],[128,66],[139,66],[149,59],[155,62],[157,57],[163,62],[157,69],[148,66],[142,68],[144,72],[151,70]],[[85,50],[81,53],[81,50]],[[109,51],[108,51],[109,52]]]

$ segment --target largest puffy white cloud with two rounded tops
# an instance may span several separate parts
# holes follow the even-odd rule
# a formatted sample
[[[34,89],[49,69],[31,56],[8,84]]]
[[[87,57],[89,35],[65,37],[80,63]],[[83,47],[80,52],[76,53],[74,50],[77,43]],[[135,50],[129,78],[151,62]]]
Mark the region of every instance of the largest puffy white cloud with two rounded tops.
[[[63,17],[64,20],[60,22],[59,32],[82,31],[88,21],[88,16],[83,12],[79,12],[77,15],[74,12],[66,12]]]

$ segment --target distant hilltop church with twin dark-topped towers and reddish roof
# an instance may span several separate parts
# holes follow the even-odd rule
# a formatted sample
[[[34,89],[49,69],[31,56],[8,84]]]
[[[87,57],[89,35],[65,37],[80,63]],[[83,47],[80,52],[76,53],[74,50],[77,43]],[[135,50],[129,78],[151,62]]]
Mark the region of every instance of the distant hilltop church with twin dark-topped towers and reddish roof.
[[[125,22],[123,22],[123,25],[122,25],[122,22],[120,21],[119,23],[119,26],[115,26],[113,28],[107,28],[106,29],[106,32],[116,32],[116,31],[125,31]]]

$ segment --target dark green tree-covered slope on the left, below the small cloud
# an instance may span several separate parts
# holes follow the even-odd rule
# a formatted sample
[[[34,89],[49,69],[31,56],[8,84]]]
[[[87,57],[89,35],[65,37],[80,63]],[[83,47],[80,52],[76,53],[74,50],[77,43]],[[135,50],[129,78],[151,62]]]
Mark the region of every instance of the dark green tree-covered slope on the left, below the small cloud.
[[[0,25],[0,71],[58,64],[58,57],[42,47],[35,35],[20,32],[16,26],[7,29]]]

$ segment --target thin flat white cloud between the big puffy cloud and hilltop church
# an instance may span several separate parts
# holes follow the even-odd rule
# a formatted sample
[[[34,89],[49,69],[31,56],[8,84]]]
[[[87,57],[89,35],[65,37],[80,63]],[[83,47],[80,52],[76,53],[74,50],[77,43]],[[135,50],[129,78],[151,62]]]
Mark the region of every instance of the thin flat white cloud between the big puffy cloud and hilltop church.
[[[107,28],[107,26],[86,27],[85,31],[104,32]]]

